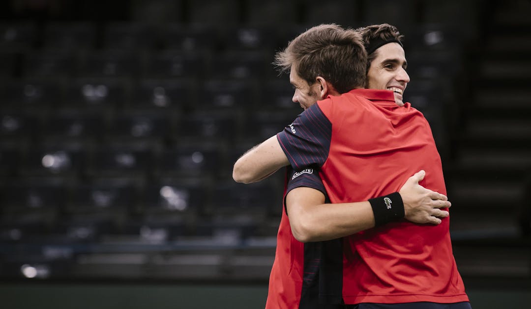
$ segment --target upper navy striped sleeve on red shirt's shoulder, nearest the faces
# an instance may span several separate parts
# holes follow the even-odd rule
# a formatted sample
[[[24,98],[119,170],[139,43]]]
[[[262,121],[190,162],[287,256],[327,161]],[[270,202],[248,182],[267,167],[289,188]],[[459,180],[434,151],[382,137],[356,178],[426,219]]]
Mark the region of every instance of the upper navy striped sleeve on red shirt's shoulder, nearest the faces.
[[[330,152],[332,123],[318,104],[312,105],[277,134],[277,139],[295,170],[321,167]]]

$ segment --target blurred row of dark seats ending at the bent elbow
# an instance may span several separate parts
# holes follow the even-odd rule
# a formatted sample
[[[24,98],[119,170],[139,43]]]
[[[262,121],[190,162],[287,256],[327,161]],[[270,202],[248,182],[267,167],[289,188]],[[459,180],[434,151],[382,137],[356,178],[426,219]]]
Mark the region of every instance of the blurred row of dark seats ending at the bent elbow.
[[[92,148],[82,144],[33,146],[24,152],[7,148],[0,151],[0,172],[21,178],[46,175],[67,178],[98,175],[230,178],[229,166],[234,161],[228,158],[226,150],[219,144],[176,145],[158,151],[152,149],[153,145],[137,143]]]

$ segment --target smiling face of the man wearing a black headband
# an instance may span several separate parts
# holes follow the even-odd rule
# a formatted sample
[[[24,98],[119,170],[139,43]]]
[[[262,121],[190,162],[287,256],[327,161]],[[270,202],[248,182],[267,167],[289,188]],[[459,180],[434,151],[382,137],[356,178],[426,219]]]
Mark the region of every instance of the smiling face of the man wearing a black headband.
[[[409,83],[404,49],[398,43],[388,43],[376,49],[377,56],[367,72],[369,89],[386,89],[395,94],[397,105],[404,105],[402,95]]]

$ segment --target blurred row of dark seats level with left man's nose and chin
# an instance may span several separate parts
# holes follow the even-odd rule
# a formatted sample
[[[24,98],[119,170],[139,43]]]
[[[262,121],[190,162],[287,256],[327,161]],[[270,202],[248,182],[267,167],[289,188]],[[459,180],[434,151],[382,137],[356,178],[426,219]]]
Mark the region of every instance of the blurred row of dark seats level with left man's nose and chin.
[[[287,77],[255,83],[249,80],[79,78],[8,80],[0,86],[0,110],[116,109],[290,109],[293,89]]]

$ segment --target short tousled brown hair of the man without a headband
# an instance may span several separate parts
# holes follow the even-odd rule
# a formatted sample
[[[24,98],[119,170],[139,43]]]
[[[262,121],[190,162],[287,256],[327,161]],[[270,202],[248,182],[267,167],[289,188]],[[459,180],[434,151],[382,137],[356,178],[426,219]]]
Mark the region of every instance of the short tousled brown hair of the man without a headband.
[[[295,65],[297,73],[309,85],[317,76],[340,93],[365,84],[367,52],[361,35],[337,24],[321,24],[299,34],[286,49],[277,52],[273,65],[287,73]]]

